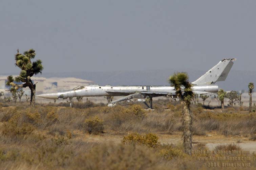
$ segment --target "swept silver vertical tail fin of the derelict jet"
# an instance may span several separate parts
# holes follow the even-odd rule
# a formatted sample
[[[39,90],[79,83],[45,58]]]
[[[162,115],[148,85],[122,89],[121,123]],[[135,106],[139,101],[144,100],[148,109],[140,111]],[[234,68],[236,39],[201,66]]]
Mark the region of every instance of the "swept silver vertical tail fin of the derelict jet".
[[[206,74],[202,75],[199,79],[192,82],[194,85],[198,84],[214,84],[218,81],[225,81],[231,67],[233,66],[233,61],[236,59],[223,59],[217,65],[212,67]]]

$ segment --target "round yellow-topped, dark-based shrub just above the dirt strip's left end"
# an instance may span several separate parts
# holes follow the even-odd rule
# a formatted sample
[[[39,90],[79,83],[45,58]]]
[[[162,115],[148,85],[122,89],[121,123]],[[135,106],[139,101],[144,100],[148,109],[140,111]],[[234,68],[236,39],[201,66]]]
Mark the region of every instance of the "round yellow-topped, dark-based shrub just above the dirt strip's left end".
[[[99,119],[98,116],[95,116],[95,117],[89,118],[89,119],[85,119],[85,126],[86,126],[86,130],[89,132],[89,134],[103,133],[103,130],[104,130],[103,120]]]

